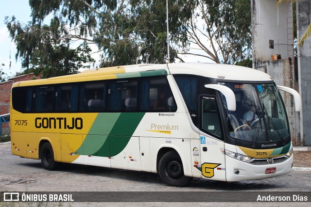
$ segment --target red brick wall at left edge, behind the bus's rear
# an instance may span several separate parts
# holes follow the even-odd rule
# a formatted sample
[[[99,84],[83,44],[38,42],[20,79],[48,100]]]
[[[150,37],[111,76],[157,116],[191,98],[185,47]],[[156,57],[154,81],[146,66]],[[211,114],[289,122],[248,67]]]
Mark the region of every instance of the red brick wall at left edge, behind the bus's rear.
[[[0,82],[0,115],[10,112],[10,96],[13,83],[23,80],[38,79],[34,74],[17,76],[5,82]],[[1,126],[0,126],[1,127]],[[2,135],[10,134],[9,123],[2,124]]]

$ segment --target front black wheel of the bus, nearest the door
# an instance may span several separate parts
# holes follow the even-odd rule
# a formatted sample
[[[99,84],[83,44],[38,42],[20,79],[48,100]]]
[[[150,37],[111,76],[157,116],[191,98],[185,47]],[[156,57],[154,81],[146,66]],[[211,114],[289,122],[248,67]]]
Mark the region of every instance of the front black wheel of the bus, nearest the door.
[[[183,163],[174,150],[163,155],[158,171],[162,181],[169,186],[183,187],[192,180],[192,177],[184,175]]]

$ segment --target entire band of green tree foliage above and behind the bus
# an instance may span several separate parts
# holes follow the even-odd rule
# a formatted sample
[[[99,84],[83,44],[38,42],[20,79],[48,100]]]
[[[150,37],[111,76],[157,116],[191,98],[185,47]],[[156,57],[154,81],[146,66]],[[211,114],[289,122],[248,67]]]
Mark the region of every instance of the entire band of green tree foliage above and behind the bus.
[[[191,20],[206,20],[214,31],[207,45],[213,60],[233,64],[250,51],[249,0],[169,0],[171,62],[178,50],[187,51]],[[52,77],[89,67],[88,44],[101,54],[100,66],[166,63],[167,29],[165,0],[29,0],[32,21],[22,24],[14,16],[5,24],[17,45],[16,59],[28,72]],[[202,12],[198,12],[203,6]],[[44,24],[52,16],[50,24]],[[216,31],[216,32],[215,32]],[[83,41],[72,49],[73,41]],[[210,58],[211,59],[211,58]]]

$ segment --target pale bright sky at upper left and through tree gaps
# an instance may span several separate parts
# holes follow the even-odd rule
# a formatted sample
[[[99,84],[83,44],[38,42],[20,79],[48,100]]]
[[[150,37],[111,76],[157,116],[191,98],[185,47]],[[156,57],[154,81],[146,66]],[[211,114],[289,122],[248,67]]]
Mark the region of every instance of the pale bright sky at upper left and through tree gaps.
[[[4,24],[5,16],[15,16],[20,22],[27,23],[31,20],[31,8],[29,6],[29,0],[1,0],[0,6],[0,64],[2,71],[7,74],[7,76],[12,77],[16,72],[22,72],[21,62],[19,59],[15,59],[15,54],[17,52],[16,45],[12,42],[9,36],[9,32]],[[90,47],[92,47],[90,45]],[[93,46],[94,47],[94,46]],[[97,51],[94,48],[93,51]],[[196,51],[197,52],[197,51]],[[11,58],[10,58],[11,56]],[[97,61],[95,65],[98,65],[99,55],[98,53],[92,55],[92,57]],[[185,62],[208,62],[205,58],[200,58],[198,56],[182,56]],[[9,67],[11,61],[11,68]]]

